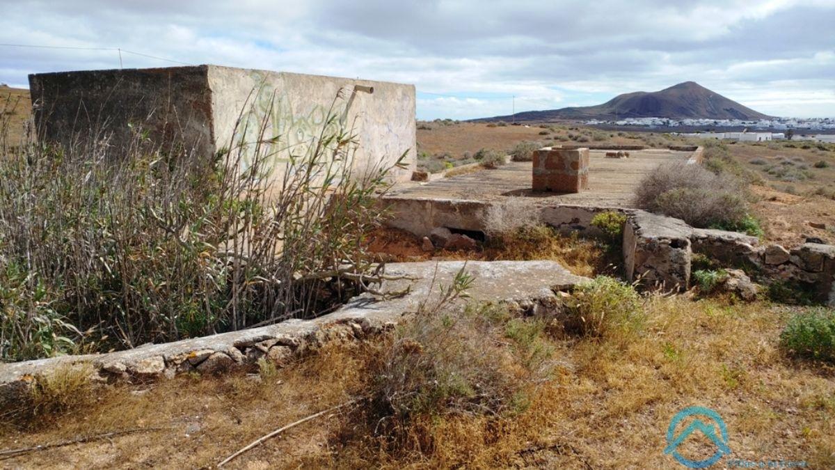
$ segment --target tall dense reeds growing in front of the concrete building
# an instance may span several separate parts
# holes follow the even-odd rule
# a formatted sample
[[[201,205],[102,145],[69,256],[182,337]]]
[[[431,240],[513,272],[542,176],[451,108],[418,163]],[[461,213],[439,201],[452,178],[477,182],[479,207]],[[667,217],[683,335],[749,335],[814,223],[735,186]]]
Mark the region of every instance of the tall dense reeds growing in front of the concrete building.
[[[354,168],[343,102],[291,148],[249,104],[215,159],[139,125],[124,148],[106,129],[66,147],[0,141],[0,357],[239,330],[365,289],[361,241],[391,167]]]

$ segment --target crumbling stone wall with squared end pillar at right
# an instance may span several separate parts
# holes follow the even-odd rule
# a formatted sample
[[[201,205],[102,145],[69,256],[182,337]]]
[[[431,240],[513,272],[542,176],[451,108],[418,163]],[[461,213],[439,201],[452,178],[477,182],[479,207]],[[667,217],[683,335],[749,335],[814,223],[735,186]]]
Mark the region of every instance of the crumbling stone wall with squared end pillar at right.
[[[726,267],[745,268],[757,280],[798,282],[810,286],[816,299],[835,306],[835,246],[805,243],[787,250],[760,246],[744,233],[694,228],[673,217],[634,211],[623,232],[626,277],[645,287],[688,289],[693,254]]]

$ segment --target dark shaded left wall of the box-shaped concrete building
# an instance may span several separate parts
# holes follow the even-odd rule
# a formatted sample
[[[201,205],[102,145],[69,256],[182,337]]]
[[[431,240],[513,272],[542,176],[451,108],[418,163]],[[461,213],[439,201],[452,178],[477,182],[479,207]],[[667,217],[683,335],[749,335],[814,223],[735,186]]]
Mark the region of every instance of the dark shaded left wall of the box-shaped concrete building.
[[[63,146],[109,135],[115,153],[142,128],[160,145],[182,135],[187,149],[210,155],[215,145],[207,72],[201,65],[29,75],[38,135]]]

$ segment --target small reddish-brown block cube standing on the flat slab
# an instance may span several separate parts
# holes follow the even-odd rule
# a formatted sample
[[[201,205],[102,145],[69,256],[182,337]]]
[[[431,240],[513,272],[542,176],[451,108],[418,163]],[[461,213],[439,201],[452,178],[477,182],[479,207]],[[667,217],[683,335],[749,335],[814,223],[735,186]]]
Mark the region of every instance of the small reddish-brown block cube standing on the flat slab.
[[[589,149],[534,152],[534,191],[574,193],[589,188]]]

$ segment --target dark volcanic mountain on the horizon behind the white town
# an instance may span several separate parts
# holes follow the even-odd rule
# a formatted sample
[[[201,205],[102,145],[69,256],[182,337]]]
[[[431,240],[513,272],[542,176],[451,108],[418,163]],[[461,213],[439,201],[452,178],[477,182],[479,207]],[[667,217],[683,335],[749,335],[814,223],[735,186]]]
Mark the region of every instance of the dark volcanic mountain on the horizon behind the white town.
[[[481,120],[510,120],[511,117],[496,116]],[[641,117],[757,120],[772,116],[751,110],[696,82],[684,82],[660,91],[618,95],[603,105],[516,113],[515,120],[619,120]]]

